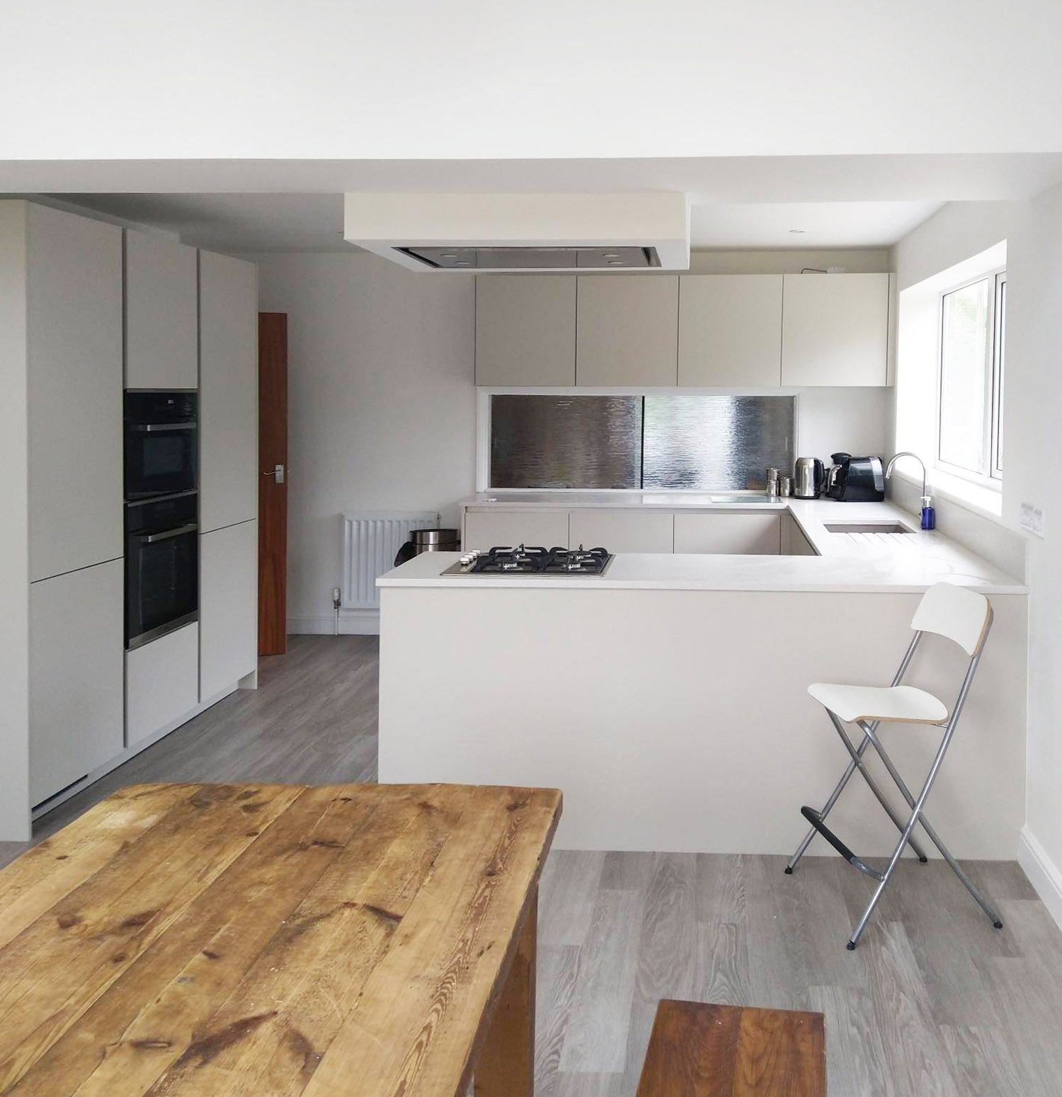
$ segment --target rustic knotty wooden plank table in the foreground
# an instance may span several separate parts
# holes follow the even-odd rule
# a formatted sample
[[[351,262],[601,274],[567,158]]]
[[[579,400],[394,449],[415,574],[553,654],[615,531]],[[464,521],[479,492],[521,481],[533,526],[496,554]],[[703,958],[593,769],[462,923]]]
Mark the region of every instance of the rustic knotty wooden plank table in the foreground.
[[[549,789],[155,784],[0,872],[0,1094],[530,1097]]]

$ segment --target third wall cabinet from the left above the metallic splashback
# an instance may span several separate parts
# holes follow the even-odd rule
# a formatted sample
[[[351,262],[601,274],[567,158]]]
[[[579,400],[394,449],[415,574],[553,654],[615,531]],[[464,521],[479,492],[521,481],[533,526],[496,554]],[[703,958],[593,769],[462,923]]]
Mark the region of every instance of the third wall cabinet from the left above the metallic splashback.
[[[679,278],[679,385],[778,385],[781,274]]]

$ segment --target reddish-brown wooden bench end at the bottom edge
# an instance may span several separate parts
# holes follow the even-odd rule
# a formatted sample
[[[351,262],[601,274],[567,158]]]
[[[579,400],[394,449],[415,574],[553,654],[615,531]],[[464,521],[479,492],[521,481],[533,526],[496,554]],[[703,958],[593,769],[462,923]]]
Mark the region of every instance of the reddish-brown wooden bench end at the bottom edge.
[[[825,1097],[822,1014],[663,1000],[637,1097]]]

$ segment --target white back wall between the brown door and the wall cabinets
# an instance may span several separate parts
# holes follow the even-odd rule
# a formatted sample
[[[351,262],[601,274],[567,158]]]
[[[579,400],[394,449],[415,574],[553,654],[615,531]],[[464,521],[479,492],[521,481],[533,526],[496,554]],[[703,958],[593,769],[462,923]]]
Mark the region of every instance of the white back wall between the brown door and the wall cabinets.
[[[456,525],[473,490],[473,279],[365,252],[252,258],[259,307],[289,319],[289,624],[331,631],[344,510]]]

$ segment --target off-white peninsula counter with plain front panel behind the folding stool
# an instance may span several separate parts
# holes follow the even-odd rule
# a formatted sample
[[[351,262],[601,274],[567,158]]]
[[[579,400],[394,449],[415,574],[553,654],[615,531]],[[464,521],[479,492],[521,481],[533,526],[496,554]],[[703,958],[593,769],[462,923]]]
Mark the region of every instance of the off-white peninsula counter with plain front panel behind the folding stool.
[[[584,576],[444,575],[460,556],[426,553],[387,573],[381,780],[561,788],[561,848],[788,855],[801,805],[818,805],[847,760],[807,686],[888,685],[922,593],[942,580],[985,593],[995,623],[933,815],[957,856],[1016,857],[1021,578],[938,533],[825,528],[867,514],[911,525],[886,504],[784,506],[821,555],[619,553]],[[964,665],[926,637],[905,681],[950,706]],[[883,734],[903,772],[926,771],[935,728]],[[832,817],[861,855],[891,851],[865,788]]]

